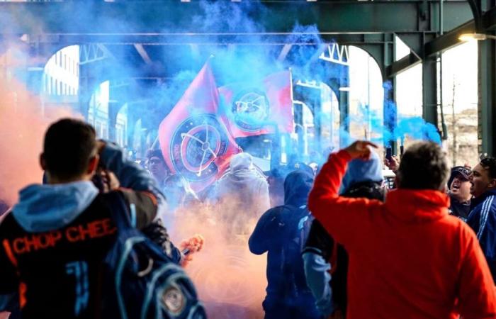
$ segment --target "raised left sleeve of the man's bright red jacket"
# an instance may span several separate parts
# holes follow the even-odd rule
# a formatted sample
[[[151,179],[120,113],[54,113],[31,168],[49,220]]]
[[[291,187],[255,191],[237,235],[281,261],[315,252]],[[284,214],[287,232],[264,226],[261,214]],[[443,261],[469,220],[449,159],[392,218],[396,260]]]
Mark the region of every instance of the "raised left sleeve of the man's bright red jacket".
[[[337,242],[345,246],[361,233],[371,206],[381,205],[379,201],[366,198],[346,198],[338,194],[341,180],[351,157],[345,150],[329,156],[329,160],[315,178],[308,197],[308,208],[313,216]]]

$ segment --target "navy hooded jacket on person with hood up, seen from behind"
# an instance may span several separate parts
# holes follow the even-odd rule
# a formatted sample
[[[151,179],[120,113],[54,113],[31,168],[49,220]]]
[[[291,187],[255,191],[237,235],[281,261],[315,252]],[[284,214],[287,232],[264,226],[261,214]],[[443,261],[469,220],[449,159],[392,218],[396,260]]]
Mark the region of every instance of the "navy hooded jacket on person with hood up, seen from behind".
[[[286,242],[292,240],[292,233],[289,231],[294,225],[303,223],[308,218],[308,210],[305,209],[308,193],[312,188],[313,177],[303,171],[295,171],[288,174],[284,181],[284,206],[277,206],[266,211],[259,219],[252,235],[249,237],[249,250],[254,254],[264,254],[267,252],[267,297],[266,300],[278,300],[284,303],[287,294],[287,283],[291,279],[288,274],[282,271],[283,249]],[[303,208],[303,209],[300,209]],[[296,216],[296,214],[300,214]],[[310,290],[305,282],[303,272],[303,260],[299,251],[291,264],[294,272],[291,278],[295,279],[295,286],[300,292],[310,295]],[[315,308],[313,302],[308,305]]]

